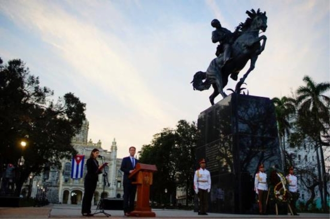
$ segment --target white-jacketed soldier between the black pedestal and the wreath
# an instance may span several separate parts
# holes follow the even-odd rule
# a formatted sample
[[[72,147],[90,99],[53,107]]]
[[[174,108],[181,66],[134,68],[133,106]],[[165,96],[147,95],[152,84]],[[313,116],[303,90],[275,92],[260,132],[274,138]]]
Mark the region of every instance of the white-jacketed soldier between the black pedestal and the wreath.
[[[259,200],[259,214],[266,214],[266,198],[267,198],[267,174],[264,173],[264,164],[259,165],[259,172],[256,173],[254,178],[254,190],[258,195]]]

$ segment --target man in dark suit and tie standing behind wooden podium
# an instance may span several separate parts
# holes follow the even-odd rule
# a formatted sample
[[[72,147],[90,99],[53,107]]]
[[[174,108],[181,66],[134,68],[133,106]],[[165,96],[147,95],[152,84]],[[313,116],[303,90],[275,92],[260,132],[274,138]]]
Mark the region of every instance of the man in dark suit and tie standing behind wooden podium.
[[[136,193],[136,185],[132,184],[135,179],[129,179],[128,176],[131,172],[134,171],[135,165],[138,163],[138,160],[135,159],[135,147],[130,147],[130,156],[124,157],[120,170],[124,172],[124,214],[125,216],[130,216],[130,212],[134,210],[134,200]]]

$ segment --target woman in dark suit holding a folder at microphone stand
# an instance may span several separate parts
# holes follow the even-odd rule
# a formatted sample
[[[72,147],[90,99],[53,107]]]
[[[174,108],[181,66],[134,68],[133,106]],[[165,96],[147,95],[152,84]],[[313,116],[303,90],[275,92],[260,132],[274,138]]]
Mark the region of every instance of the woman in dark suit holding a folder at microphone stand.
[[[87,159],[87,174],[84,179],[84,194],[82,198],[82,215],[93,216],[91,214],[92,199],[98,183],[99,174],[102,173],[104,166],[99,166],[99,162],[96,158],[99,157],[99,149],[93,149],[91,155]],[[105,163],[104,165],[106,165]]]

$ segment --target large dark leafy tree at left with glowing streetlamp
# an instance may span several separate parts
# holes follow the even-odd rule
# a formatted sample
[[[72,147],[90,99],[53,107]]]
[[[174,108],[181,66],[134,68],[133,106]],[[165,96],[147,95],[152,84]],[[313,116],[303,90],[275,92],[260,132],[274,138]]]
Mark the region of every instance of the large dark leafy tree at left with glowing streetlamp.
[[[0,62],[0,164],[16,166],[16,193],[33,172],[60,166],[77,151],[71,145],[85,120],[85,104],[72,93],[55,102],[21,60]],[[26,142],[23,148],[21,141]],[[17,161],[24,157],[24,165]]]

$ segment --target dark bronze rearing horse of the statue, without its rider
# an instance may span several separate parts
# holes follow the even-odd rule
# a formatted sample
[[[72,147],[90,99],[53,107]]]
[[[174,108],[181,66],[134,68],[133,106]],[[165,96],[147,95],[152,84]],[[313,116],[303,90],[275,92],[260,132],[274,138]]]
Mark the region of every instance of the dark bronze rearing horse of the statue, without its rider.
[[[244,83],[248,74],[254,69],[258,56],[264,51],[267,37],[259,36],[259,31],[266,31],[267,16],[266,12],[260,12],[260,9],[255,12],[253,9],[246,12],[249,16],[245,23],[241,23],[237,29],[238,37],[231,45],[231,60],[224,64],[223,54],[211,61],[206,72],[197,72],[194,75],[193,83],[194,90],[203,91],[214,88],[213,94],[210,96],[211,104],[214,105],[214,98],[221,94],[223,98],[227,96],[223,88],[228,83],[228,77],[237,80],[238,73],[244,68],[248,60],[250,67],[242,78],[237,82],[235,92],[240,93],[241,85]],[[261,41],[263,41],[261,45]]]

